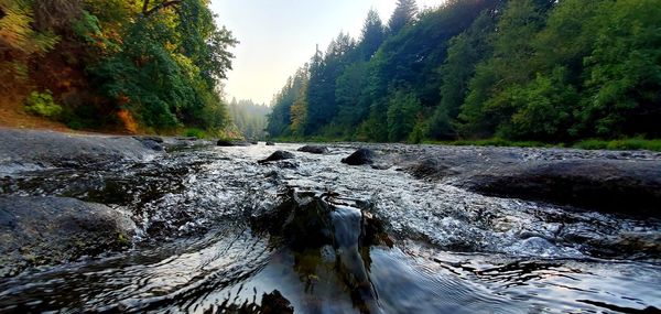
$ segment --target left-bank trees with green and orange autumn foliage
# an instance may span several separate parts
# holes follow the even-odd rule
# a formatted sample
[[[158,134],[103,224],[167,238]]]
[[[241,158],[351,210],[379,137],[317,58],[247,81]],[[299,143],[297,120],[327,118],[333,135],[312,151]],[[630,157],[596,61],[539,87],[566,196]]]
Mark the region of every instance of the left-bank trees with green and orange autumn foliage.
[[[219,130],[237,41],[208,0],[0,0],[0,88],[73,128]]]

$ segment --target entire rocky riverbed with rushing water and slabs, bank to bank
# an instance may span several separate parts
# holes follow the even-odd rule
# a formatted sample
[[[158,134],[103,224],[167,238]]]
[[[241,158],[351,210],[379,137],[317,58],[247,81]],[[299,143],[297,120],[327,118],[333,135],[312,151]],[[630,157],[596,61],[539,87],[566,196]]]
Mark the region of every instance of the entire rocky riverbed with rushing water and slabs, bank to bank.
[[[0,139],[0,312],[661,308],[659,153]]]

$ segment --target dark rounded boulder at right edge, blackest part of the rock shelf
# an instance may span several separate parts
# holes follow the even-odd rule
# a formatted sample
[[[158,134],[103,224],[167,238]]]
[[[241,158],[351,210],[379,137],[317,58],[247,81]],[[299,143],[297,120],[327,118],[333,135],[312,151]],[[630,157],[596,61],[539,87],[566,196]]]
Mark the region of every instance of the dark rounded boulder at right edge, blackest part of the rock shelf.
[[[462,186],[487,195],[661,217],[659,161],[545,161],[480,173]]]

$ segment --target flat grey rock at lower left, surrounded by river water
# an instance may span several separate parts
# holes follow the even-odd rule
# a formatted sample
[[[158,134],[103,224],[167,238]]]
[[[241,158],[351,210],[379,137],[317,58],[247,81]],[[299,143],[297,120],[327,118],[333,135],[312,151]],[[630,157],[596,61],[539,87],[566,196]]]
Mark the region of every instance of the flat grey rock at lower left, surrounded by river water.
[[[136,225],[108,206],[74,198],[0,197],[0,277],[126,249]]]

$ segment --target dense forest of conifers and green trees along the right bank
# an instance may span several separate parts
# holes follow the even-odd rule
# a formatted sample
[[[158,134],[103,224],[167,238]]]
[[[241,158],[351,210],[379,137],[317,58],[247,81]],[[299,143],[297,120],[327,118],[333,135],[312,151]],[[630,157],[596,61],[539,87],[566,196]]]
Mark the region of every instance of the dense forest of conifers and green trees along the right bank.
[[[278,93],[272,137],[572,142],[661,136],[657,0],[399,0]]]

